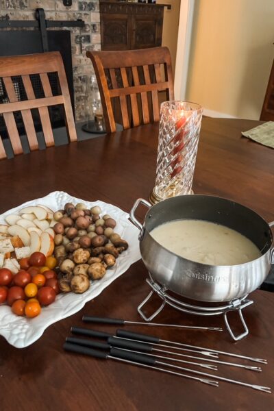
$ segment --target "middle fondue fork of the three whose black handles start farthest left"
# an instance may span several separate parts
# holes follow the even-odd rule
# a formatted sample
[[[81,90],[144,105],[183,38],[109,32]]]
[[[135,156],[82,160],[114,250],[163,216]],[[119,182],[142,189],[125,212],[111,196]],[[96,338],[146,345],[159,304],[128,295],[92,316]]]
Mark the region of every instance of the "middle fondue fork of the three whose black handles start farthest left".
[[[72,343],[72,344],[77,344],[77,345],[84,345],[84,346],[90,347],[90,348],[99,348],[99,349],[120,348],[120,349],[124,349],[124,348],[119,347],[119,345],[112,345],[111,343],[98,343],[97,341],[87,340],[86,338],[66,337],[66,342],[67,343]],[[200,362],[195,362],[195,361],[179,360],[179,358],[158,356],[156,354],[144,353],[142,351],[134,351],[133,349],[124,349],[124,350],[125,351],[131,351],[132,353],[142,354],[143,356],[153,356],[153,357],[157,357],[157,358],[163,358],[164,360],[171,360],[171,361],[175,361],[175,362],[184,362],[185,364],[197,365],[197,366],[201,366],[201,368],[203,368],[203,369],[210,369],[210,370],[214,370],[214,371],[217,370],[216,365],[212,365],[212,364],[201,364]],[[158,350],[158,351],[160,351],[160,350]],[[172,366],[172,364],[171,364],[171,366]]]

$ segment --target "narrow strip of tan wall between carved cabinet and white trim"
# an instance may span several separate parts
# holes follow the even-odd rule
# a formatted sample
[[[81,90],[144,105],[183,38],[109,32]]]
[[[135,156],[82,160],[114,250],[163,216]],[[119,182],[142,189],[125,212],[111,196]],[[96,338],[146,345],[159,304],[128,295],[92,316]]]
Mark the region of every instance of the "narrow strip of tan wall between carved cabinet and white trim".
[[[171,10],[167,10],[167,8],[164,8],[162,46],[169,47],[169,51],[171,52],[172,68],[174,73],[177,50],[180,0],[157,0],[157,3],[171,4]]]

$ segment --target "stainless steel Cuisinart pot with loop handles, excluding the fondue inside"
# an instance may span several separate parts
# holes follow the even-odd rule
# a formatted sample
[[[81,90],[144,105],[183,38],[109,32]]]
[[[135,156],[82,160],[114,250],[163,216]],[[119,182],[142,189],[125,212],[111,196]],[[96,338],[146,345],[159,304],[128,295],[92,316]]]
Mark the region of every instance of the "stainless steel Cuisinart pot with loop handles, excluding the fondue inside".
[[[149,207],[143,225],[135,211],[142,203]],[[182,195],[151,207],[138,199],[130,219],[140,229],[140,253],[151,277],[169,290],[198,301],[230,301],[249,294],[264,282],[274,262],[271,225],[253,210],[234,201],[208,195]],[[219,223],[249,238],[262,256],[233,266],[211,266],[186,260],[162,247],[150,235],[160,224],[179,219]]]

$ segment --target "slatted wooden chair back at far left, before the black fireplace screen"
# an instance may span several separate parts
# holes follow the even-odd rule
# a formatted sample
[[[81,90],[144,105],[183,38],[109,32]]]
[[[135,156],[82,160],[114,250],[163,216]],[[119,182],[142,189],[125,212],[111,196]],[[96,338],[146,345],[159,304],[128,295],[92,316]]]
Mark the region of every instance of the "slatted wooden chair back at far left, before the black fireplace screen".
[[[57,77],[58,92],[54,92],[49,82],[49,76]],[[33,82],[39,83],[40,92],[34,90]],[[45,138],[45,146],[55,144],[49,107],[62,105],[66,121],[66,130],[70,141],[77,140],[71,97],[66,81],[66,73],[62,57],[58,51],[32,55],[17,55],[0,58],[0,120],[4,123],[10,139],[14,155],[23,153],[22,138],[18,132],[18,119],[27,136],[29,149],[38,149],[36,135],[37,125],[34,124],[32,110],[38,109],[40,128]],[[1,119],[2,117],[2,119]],[[3,136],[2,136],[3,138]],[[0,138],[0,158],[5,158],[6,152]]]

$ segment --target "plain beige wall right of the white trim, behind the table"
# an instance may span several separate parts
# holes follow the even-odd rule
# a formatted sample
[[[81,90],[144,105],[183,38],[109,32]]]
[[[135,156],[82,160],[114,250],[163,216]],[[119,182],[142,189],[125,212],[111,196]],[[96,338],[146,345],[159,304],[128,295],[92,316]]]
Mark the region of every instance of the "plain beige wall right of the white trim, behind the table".
[[[273,41],[274,0],[195,0],[186,99],[259,119]]]

